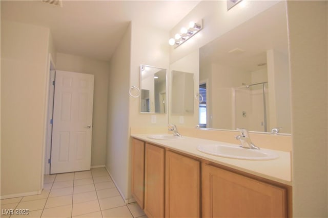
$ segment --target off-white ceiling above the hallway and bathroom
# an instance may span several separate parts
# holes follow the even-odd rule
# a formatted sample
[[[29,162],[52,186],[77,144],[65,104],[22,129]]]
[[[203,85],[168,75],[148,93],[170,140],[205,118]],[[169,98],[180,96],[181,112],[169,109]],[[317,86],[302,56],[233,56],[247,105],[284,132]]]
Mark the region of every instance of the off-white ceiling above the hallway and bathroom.
[[[3,1],[1,19],[50,28],[57,52],[109,61],[130,21],[170,31],[199,1]]]

